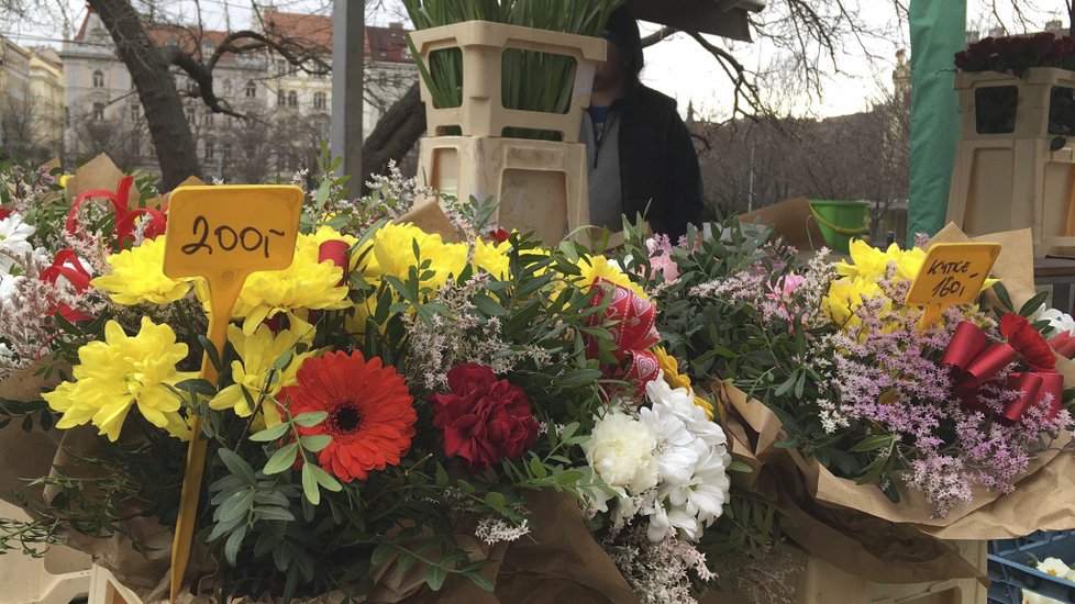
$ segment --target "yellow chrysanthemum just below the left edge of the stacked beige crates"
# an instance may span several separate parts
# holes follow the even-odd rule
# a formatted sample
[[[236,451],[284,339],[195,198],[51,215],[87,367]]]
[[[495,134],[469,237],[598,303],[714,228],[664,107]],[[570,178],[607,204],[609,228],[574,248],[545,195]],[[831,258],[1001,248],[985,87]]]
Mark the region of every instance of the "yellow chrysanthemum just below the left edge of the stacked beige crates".
[[[373,256],[381,273],[406,279],[411,267],[419,264],[414,256],[415,244],[421,261],[429,260],[429,270],[433,272],[422,286],[440,289],[466,266],[466,245],[444,243],[440,235],[426,233],[413,224],[386,224],[373,237]]]

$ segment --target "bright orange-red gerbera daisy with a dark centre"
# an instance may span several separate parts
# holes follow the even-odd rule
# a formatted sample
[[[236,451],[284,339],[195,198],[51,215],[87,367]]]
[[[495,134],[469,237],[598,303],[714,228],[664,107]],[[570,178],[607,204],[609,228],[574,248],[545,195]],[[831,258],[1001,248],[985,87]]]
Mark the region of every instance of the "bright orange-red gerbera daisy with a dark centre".
[[[280,400],[291,415],[329,413],[324,422],[298,428],[303,436],[332,437],[318,452],[326,471],[344,481],[365,480],[370,470],[396,466],[407,455],[418,414],[396,369],[355,350],[307,359],[296,378],[298,385],[285,388]]]

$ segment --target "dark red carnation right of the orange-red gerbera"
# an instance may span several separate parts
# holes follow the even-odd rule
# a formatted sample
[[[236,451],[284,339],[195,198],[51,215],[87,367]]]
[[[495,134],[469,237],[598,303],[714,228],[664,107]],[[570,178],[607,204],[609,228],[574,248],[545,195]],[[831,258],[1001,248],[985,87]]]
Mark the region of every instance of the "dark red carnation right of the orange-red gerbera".
[[[488,469],[501,458],[519,458],[538,440],[538,421],[522,388],[497,380],[474,362],[448,370],[448,394],[430,396],[433,425],[444,433],[444,452],[472,469]]]

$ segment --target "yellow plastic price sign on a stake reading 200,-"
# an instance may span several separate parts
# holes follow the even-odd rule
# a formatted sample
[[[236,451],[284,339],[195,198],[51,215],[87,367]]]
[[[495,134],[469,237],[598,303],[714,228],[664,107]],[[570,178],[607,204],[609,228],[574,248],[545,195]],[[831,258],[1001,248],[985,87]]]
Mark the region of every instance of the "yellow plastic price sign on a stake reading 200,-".
[[[302,190],[298,187],[180,187],[173,191],[165,234],[164,272],[173,279],[203,277],[209,286],[209,340],[223,356],[228,323],[243,283],[259,270],[291,265],[298,238]],[[220,376],[206,355],[201,376]],[[198,497],[206,468],[207,441],[195,416],[187,469],[179,495],[179,518],[171,547],[171,602],[176,601],[190,558]]]

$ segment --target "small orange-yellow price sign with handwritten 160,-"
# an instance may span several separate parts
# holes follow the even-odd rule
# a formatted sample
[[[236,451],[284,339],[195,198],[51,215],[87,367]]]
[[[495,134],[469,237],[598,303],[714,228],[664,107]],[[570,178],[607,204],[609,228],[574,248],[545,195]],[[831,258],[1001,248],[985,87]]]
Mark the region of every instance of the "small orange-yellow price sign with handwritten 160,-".
[[[919,328],[935,323],[949,306],[974,302],[998,256],[1000,244],[933,244],[907,293],[908,305],[926,306]]]

